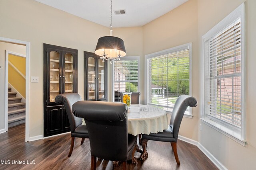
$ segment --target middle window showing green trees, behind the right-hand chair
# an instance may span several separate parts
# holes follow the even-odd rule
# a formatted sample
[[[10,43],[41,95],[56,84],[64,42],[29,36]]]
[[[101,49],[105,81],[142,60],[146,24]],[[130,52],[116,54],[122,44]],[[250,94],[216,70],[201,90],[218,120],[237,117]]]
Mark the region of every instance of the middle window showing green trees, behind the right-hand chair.
[[[147,104],[172,112],[177,98],[191,93],[190,58],[191,43],[146,55]]]

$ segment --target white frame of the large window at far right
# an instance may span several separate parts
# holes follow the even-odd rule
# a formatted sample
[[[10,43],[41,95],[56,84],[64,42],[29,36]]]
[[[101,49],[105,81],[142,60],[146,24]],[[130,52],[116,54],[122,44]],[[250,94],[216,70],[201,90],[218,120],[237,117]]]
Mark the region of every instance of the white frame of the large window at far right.
[[[204,62],[205,62],[205,43],[214,35],[218,34],[220,31],[225,29],[228,25],[230,25],[232,22],[240,18],[241,22],[241,128],[237,131],[237,129],[232,130],[230,128],[230,123],[226,123],[225,121],[221,121],[218,119],[218,121],[211,120],[209,117],[207,117],[207,113],[204,112],[205,106],[204,106],[204,100],[205,100],[205,93],[204,93]],[[220,133],[226,135],[227,137],[233,139],[234,141],[240,143],[241,145],[246,145],[246,47],[245,47],[245,6],[244,3],[242,3],[238,8],[236,8],[234,11],[232,11],[228,16],[226,16],[222,21],[220,21],[217,25],[212,27],[206,34],[202,36],[202,55],[201,55],[201,89],[202,89],[202,100],[201,100],[201,120],[206,125],[214,128],[215,130],[219,131]],[[217,118],[216,118],[217,119]]]

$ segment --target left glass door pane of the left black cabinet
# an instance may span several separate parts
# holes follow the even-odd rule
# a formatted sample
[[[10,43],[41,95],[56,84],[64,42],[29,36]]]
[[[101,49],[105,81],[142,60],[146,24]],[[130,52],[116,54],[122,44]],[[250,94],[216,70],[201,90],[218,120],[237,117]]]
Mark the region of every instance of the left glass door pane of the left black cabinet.
[[[50,52],[50,101],[55,102],[55,97],[60,94],[60,53]]]

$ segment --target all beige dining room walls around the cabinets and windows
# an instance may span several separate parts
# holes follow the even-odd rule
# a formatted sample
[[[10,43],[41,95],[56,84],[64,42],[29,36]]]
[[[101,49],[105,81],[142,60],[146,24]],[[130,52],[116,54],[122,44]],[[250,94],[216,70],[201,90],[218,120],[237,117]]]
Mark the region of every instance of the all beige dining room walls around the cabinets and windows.
[[[192,109],[192,119],[183,119],[180,135],[199,141],[228,169],[253,169],[255,165],[256,1],[246,0],[246,147],[200,121],[201,37],[243,1],[189,0],[143,27],[115,28],[113,31],[114,36],[124,40],[127,56],[140,56],[142,103],[145,102],[144,55],[192,42],[192,95],[198,99],[198,107]],[[83,96],[83,51],[93,52],[98,38],[109,35],[109,28],[30,0],[1,0],[0,21],[1,37],[30,42],[30,74],[39,76],[39,83],[30,84],[30,137],[42,135],[43,43],[78,49],[78,93]],[[110,92],[110,71],[108,76]],[[198,130],[199,123],[203,125],[202,131]]]

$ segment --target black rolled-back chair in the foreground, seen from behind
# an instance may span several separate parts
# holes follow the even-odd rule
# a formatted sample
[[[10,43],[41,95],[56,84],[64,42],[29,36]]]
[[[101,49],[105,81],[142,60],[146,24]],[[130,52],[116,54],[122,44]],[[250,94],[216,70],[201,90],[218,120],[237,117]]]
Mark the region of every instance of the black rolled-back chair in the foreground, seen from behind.
[[[134,158],[137,136],[128,134],[126,104],[100,101],[76,102],[72,111],[83,117],[88,128],[91,147],[91,169],[96,169],[96,158],[123,162]]]

